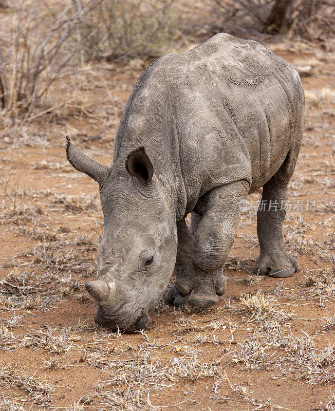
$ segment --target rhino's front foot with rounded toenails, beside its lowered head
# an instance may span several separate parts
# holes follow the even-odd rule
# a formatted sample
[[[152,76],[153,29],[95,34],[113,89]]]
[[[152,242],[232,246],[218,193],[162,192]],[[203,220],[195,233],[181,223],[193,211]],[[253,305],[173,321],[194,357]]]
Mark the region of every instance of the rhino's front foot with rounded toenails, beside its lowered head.
[[[222,268],[213,272],[198,272],[194,264],[185,264],[177,276],[175,289],[192,306],[206,308],[219,301],[227,290],[227,277]]]

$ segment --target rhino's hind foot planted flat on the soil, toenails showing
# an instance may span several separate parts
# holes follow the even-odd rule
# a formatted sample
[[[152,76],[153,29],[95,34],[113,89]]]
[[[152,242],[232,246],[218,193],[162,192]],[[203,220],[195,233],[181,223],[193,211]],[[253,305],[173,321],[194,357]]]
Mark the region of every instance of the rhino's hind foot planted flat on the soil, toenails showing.
[[[255,265],[254,274],[286,278],[292,277],[299,268],[297,260],[284,251],[281,255],[275,257],[260,255]]]

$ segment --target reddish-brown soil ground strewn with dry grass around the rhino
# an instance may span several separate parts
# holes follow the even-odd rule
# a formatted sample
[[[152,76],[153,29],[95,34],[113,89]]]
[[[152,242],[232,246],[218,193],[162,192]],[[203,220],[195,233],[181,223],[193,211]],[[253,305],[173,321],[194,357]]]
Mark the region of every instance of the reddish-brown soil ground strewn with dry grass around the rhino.
[[[285,53],[283,57],[294,63],[314,55]],[[333,84],[329,64],[320,62],[318,70],[317,76],[302,79],[306,90]],[[139,73],[123,73],[122,67],[117,67],[115,77],[109,73],[113,84],[128,87],[126,91],[119,87],[117,97],[122,104]],[[4,396],[32,410],[44,406],[82,407],[87,411],[165,407],[185,411],[331,409],[326,405],[334,391],[335,351],[320,367],[311,356],[335,343],[335,285],[330,259],[334,250],[333,108],[328,102],[308,103],[305,140],[289,188],[292,207],[297,200],[303,201],[303,207],[307,200],[316,201],[315,210],[289,211],[285,223],[287,249],[299,259],[301,270],[284,280],[252,276],[259,253],[256,219],[253,213],[245,213],[227,263],[228,291],[218,306],[175,310],[161,304],[148,329],[131,335],[110,333],[94,324],[96,308],[84,283],[94,278],[102,234],[99,193],[94,182],[67,163],[63,137],[68,134],[82,151],[108,164],[117,124],[107,130],[97,119],[83,116],[48,127],[36,123],[29,129],[30,141],[22,144],[14,144],[12,137],[5,138],[0,151],[4,201],[0,215],[0,279],[15,286],[13,278],[27,278],[24,283],[17,281],[22,296],[30,295],[33,301],[29,305],[21,298],[21,305],[6,305],[3,301],[13,289],[0,289],[0,323],[11,334],[7,338],[5,328],[0,330],[0,389]],[[87,138],[99,135],[102,128],[103,138]],[[46,129],[41,145],[31,130],[43,134]],[[259,193],[251,196],[253,203],[258,199]],[[46,251],[41,257],[43,249]],[[43,277],[49,272],[52,278]],[[29,294],[27,285],[41,288],[45,304],[36,302],[39,293]],[[255,320],[240,296],[257,289],[275,306]],[[17,291],[15,295],[20,297]],[[52,296],[57,298],[52,300]],[[281,310],[291,315],[280,314]],[[277,338],[278,344],[269,340],[271,329],[276,327],[278,332],[272,340]],[[39,335],[48,330],[58,338],[68,332],[68,351],[65,348],[57,352],[50,339],[41,343]],[[311,342],[304,344],[308,336]],[[248,343],[249,351],[243,351]],[[57,365],[53,369],[45,361],[54,357]],[[174,375],[167,368],[169,372],[151,379],[150,366],[159,364],[163,368],[171,361],[188,365]],[[138,362],[142,374],[135,372]],[[134,381],[115,379],[128,363],[133,364]],[[40,391],[29,393],[22,385],[13,386],[13,379],[4,378],[3,367],[16,370],[13,372],[21,380],[22,372],[33,375],[52,391],[40,395]],[[126,397],[127,387],[138,390],[138,401]],[[108,400],[106,393],[123,399],[119,408],[108,408],[108,401],[116,404],[116,400]]]

